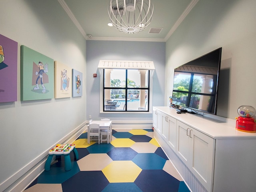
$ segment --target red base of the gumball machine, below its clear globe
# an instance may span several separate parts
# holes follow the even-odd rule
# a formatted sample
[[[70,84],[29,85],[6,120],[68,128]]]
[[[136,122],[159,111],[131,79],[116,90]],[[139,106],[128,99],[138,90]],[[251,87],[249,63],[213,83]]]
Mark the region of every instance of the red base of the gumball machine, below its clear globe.
[[[238,117],[236,120],[236,130],[256,133],[256,123],[254,118]]]

